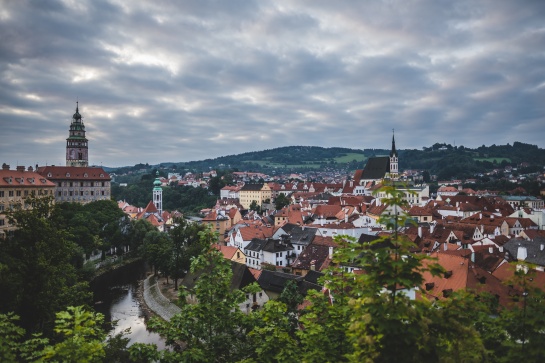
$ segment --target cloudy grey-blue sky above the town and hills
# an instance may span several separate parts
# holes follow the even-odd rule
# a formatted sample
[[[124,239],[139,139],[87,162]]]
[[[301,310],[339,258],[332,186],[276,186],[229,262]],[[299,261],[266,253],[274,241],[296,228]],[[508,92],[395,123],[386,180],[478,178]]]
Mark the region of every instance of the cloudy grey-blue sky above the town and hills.
[[[545,147],[545,1],[0,0],[0,162]]]

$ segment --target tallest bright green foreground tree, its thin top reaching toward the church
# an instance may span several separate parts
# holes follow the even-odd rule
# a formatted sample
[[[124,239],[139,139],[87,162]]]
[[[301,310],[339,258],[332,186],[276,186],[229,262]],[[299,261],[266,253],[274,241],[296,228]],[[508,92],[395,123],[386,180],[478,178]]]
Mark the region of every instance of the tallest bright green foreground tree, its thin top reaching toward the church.
[[[403,193],[384,187],[382,202],[392,207],[381,223],[389,238],[359,245],[353,238],[337,238],[335,252],[324,278],[327,294],[310,293],[310,307],[301,316],[299,332],[303,360],[353,362],[435,361],[435,337],[429,335],[433,309],[425,301],[411,300],[407,292],[422,285],[425,256],[410,252],[412,242],[397,233],[407,219],[401,207]],[[355,265],[363,273],[348,273]],[[439,266],[431,263],[432,273]]]

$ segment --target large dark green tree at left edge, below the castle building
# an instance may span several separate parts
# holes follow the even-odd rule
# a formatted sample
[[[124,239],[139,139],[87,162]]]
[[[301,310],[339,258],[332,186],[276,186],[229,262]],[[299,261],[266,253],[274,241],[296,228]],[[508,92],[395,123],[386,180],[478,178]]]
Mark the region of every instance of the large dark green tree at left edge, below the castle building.
[[[29,197],[26,203],[33,208],[8,214],[17,229],[0,250],[0,265],[5,267],[0,274],[0,311],[19,315],[25,330],[48,331],[56,311],[87,304],[91,294],[73,264],[81,250],[50,218],[53,199]]]

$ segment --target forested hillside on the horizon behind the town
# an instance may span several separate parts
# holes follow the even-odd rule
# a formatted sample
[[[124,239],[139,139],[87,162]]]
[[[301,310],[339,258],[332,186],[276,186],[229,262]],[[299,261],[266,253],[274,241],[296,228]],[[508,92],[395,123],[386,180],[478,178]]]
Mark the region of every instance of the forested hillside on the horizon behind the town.
[[[222,156],[191,162],[165,162],[160,165],[138,164],[134,167],[110,169],[117,174],[129,171],[151,170],[153,167],[169,168],[179,172],[199,173],[210,169],[278,174],[337,170],[350,173],[364,167],[369,157],[388,155],[386,149],[323,148],[319,146],[287,146],[254,151],[238,155]],[[467,178],[507,165],[519,167],[522,172],[537,172],[545,165],[545,149],[536,145],[514,142],[513,145],[482,145],[476,149],[449,144],[434,144],[417,149],[398,149],[401,170],[427,170],[439,179]]]

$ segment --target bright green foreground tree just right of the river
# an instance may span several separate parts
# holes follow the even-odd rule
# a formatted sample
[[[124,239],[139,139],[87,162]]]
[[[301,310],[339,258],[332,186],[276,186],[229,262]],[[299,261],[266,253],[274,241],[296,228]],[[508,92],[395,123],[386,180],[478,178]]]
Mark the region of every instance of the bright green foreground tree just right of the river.
[[[201,238],[211,243],[216,236],[205,231]],[[246,336],[250,320],[239,308],[245,293],[231,289],[231,262],[210,249],[193,260],[191,272],[198,278],[190,290],[181,288],[181,312],[169,322],[150,321],[150,327],[164,336],[167,344],[183,342],[185,348],[181,352],[157,354],[160,358],[173,354],[170,359],[179,362],[231,362],[245,358],[250,351]],[[196,303],[187,303],[189,295]],[[149,354],[148,348],[138,344],[130,350],[134,354],[141,350]]]

